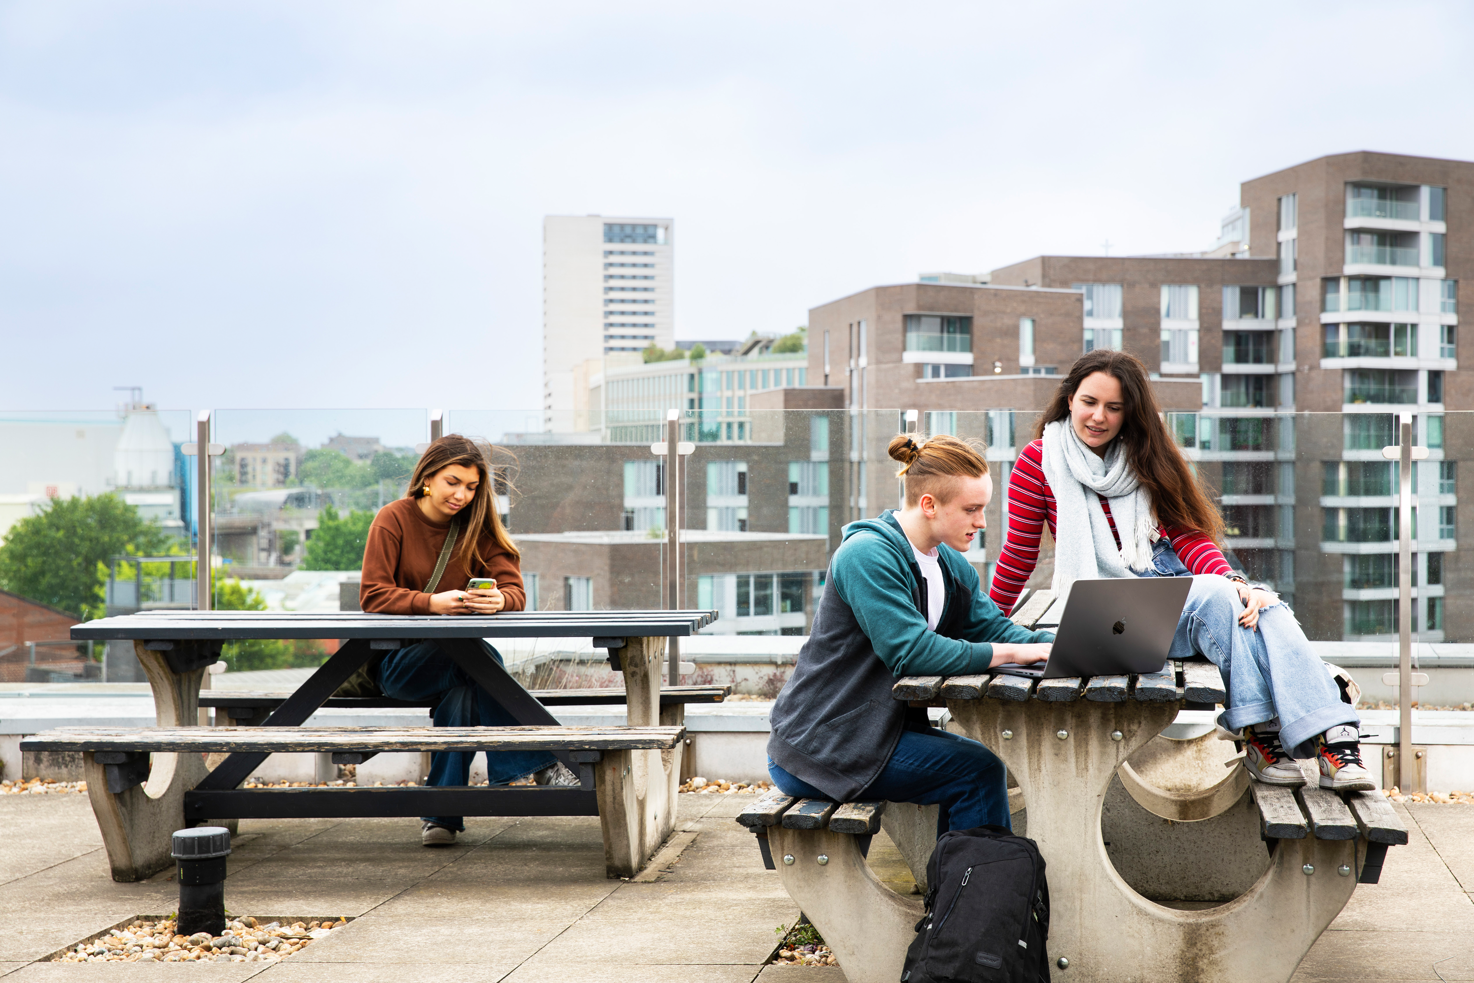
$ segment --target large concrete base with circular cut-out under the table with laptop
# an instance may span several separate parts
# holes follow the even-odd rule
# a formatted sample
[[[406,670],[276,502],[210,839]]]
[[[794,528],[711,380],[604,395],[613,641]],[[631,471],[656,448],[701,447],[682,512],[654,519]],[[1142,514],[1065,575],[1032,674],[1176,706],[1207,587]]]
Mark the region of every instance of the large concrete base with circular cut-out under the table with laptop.
[[[1172,722],[1176,703],[949,706],[961,731],[999,755],[1023,787],[1029,836],[1048,864],[1049,956],[1069,959],[1069,979],[1288,980],[1356,886],[1358,840],[1279,840],[1263,875],[1228,903],[1181,911],[1151,902],[1111,865],[1101,806],[1120,765]]]

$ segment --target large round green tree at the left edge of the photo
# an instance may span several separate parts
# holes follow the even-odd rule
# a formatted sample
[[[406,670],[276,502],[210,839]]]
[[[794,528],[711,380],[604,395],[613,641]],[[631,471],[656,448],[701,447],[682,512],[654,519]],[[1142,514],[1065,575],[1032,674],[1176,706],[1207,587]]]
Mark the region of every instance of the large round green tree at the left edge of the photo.
[[[170,536],[118,495],[56,498],[21,519],[0,545],[0,590],[96,618],[103,609],[106,560],[165,550]]]

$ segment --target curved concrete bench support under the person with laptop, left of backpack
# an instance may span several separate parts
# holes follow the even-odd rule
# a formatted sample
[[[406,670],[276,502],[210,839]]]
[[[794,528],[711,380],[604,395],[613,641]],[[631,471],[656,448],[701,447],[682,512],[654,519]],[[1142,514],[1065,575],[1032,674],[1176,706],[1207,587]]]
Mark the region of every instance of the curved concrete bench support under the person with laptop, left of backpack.
[[[775,825],[768,828],[768,843],[784,890],[834,951],[845,979],[899,980],[921,920],[921,899],[902,898],[881,884],[853,836]]]

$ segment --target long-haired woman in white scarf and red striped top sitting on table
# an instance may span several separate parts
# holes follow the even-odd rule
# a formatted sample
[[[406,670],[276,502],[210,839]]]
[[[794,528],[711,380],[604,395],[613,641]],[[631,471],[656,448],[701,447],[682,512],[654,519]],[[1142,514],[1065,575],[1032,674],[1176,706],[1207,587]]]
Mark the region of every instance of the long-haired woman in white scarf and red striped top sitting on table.
[[[1250,778],[1369,790],[1356,710],[1271,591],[1250,587],[1218,547],[1223,520],[1163,421],[1147,367],[1094,351],[1070,367],[1008,477],[1008,535],[991,590],[1007,613],[1054,536],[1054,591],[1077,579],[1192,576],[1172,659],[1207,656],[1228,681],[1219,724],[1243,731]],[[1288,749],[1288,752],[1287,752]]]

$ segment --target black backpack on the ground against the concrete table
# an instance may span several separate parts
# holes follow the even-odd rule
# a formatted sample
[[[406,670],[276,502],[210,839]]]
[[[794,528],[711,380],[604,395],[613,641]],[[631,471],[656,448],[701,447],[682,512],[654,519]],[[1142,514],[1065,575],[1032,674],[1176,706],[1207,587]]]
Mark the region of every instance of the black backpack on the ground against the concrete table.
[[[1001,825],[943,833],[927,883],[902,983],[1048,983],[1049,886],[1033,840]]]

